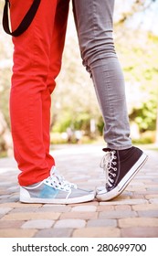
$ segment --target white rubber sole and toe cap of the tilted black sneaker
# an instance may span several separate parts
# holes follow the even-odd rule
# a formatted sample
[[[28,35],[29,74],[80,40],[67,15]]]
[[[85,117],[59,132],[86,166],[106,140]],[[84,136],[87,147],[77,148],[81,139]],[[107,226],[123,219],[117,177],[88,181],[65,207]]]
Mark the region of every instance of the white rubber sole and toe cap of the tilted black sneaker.
[[[99,201],[109,201],[114,197],[118,197],[121,192],[129,185],[132,181],[132,178],[140,171],[142,166],[148,159],[148,155],[142,154],[139,160],[132,166],[131,170],[121,179],[121,182],[118,184],[117,187],[113,188],[111,191],[107,191],[106,188],[97,190],[96,198]]]

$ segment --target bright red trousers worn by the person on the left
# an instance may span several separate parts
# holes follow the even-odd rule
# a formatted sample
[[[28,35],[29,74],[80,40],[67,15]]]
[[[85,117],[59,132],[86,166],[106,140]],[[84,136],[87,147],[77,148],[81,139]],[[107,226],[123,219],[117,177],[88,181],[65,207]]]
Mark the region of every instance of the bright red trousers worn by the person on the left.
[[[33,0],[10,0],[15,30]],[[55,165],[49,155],[51,93],[61,67],[69,0],[41,0],[30,27],[13,37],[14,66],[10,91],[10,118],[14,153],[21,186],[49,176]]]

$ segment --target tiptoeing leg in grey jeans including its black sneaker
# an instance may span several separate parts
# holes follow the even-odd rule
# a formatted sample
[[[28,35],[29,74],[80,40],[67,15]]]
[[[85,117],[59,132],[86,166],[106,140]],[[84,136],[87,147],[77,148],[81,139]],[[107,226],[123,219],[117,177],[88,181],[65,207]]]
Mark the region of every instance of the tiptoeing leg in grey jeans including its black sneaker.
[[[124,78],[112,38],[113,7],[113,0],[73,0],[81,57],[94,82],[108,144],[100,165],[106,184],[97,190],[99,200],[119,196],[147,159],[130,139]]]

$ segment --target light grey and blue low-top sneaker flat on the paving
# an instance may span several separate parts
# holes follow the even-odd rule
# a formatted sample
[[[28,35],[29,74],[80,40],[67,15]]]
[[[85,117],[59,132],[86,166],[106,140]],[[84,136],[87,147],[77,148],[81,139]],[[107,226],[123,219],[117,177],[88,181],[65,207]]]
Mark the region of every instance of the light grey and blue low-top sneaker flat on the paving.
[[[43,181],[20,187],[20,201],[24,203],[75,204],[91,201],[94,197],[93,190],[81,189],[59,176],[55,166]]]

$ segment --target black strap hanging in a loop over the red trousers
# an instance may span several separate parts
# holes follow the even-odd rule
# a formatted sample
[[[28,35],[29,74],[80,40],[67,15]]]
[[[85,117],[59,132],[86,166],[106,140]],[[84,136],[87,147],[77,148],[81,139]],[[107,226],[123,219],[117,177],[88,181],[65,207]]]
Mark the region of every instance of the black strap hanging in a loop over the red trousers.
[[[9,0],[5,0],[5,7],[4,7],[4,14],[3,14],[3,27],[5,32],[13,37],[18,37],[22,33],[24,33],[27,27],[29,27],[29,25],[31,24],[34,16],[36,16],[37,8],[40,4],[40,1],[41,0],[34,0],[31,7],[27,11],[26,16],[23,18],[22,22],[20,23],[20,25],[16,28],[15,31],[11,32],[9,28],[9,18],[8,18],[8,7],[10,3],[9,3]]]

